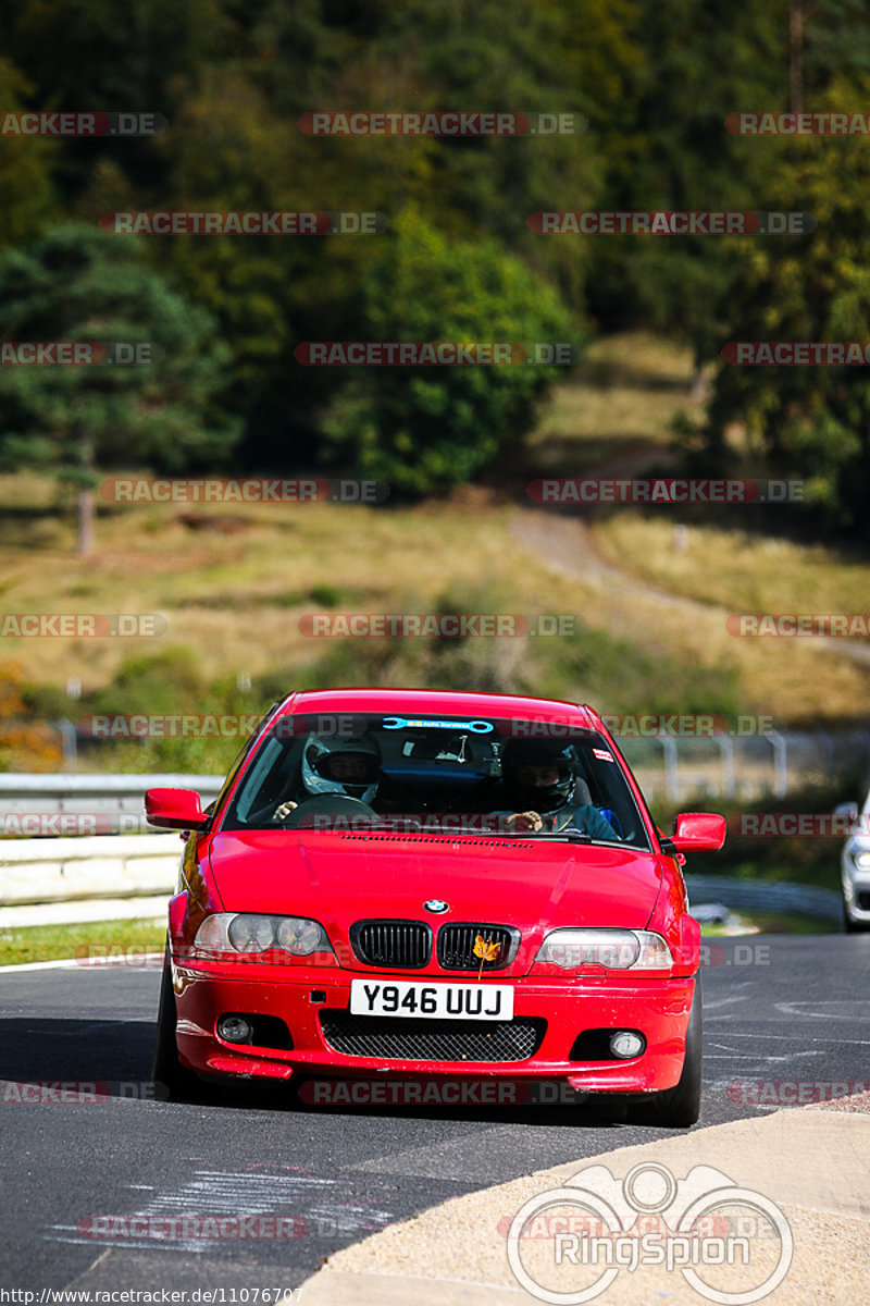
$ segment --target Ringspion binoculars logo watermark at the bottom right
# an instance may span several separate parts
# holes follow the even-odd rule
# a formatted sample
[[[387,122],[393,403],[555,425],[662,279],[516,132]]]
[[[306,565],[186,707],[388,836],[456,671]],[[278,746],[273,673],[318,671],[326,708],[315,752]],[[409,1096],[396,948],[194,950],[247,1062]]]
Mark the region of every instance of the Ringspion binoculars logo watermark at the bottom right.
[[[531,1198],[507,1226],[506,1251],[541,1302],[595,1301],[622,1272],[634,1299],[653,1301],[673,1294],[678,1271],[699,1298],[749,1306],[783,1282],[794,1242],[773,1202],[721,1170],[698,1165],[677,1179],[644,1161],[622,1181],[591,1165]]]

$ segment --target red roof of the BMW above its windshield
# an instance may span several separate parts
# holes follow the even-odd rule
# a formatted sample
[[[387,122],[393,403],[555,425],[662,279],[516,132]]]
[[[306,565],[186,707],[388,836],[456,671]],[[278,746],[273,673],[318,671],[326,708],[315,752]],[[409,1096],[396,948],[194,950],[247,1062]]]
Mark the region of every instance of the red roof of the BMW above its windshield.
[[[514,693],[464,690],[304,690],[280,704],[278,716],[314,712],[432,713],[445,716],[513,717],[520,721],[558,721],[601,730],[604,724],[587,704],[563,699],[533,699]]]

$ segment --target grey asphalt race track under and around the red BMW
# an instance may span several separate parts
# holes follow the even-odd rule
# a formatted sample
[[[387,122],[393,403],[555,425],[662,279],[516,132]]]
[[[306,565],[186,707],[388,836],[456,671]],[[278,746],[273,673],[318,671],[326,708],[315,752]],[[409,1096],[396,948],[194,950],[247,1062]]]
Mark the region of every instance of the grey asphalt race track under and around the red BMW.
[[[870,936],[708,947],[698,1128],[772,1109],[738,1081],[870,1079]],[[665,1132],[580,1106],[323,1110],[288,1089],[154,1101],[158,986],[158,969],[0,974],[4,1286],[223,1288],[245,1301],[241,1289],[295,1288],[333,1250],[446,1198]],[[108,1084],[110,1096],[22,1100],[34,1081]],[[203,1213],[252,1216],[260,1235],[166,1235]],[[111,1224],[120,1234],[95,1235],[106,1216],[125,1217]]]

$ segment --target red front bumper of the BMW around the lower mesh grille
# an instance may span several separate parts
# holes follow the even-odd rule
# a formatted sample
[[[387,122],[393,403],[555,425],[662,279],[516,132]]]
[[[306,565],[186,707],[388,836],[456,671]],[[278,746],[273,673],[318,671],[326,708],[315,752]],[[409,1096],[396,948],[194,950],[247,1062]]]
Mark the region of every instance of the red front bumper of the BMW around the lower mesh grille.
[[[695,990],[694,977],[511,978],[514,1021],[537,1023],[539,1030],[543,1027],[543,1037],[531,1055],[500,1060],[475,1060],[459,1053],[454,1057],[450,1038],[454,1030],[446,1029],[443,1055],[400,1059],[386,1053],[350,1055],[337,1050],[335,1040],[330,1046],[325,1037],[321,1015],[327,1013],[327,1020],[330,1016],[350,1019],[351,980],[359,978],[359,973],[339,968],[252,968],[200,960],[173,963],[172,969],[179,1054],[184,1066],[198,1075],[283,1080],[293,1076],[506,1077],[567,1081],[575,1092],[650,1093],[672,1088],[682,1071],[686,1027]],[[252,969],[260,973],[253,976]],[[274,973],[278,969],[280,973]],[[367,972],[365,977],[383,982],[408,978],[438,982],[419,973]],[[467,982],[468,978],[455,977],[455,982]],[[449,982],[446,976],[438,980]],[[217,1024],[228,1012],[278,1017],[290,1030],[292,1047],[226,1042],[218,1036]],[[425,1023],[416,1024],[423,1027]],[[484,1024],[488,1023],[475,1021],[473,1033]],[[385,1025],[403,1032],[399,1027],[407,1027],[408,1021],[386,1020]],[[468,1028],[470,1023],[440,1021],[438,1025],[442,1029],[451,1025]],[[638,1057],[626,1060],[573,1059],[578,1036],[601,1029],[639,1030],[646,1038],[646,1047]]]

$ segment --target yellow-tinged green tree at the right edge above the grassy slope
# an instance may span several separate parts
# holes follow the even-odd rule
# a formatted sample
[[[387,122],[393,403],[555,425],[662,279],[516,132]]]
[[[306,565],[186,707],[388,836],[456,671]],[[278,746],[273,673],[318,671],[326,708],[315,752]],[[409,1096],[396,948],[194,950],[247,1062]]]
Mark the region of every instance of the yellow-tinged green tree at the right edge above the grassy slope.
[[[840,84],[815,107],[850,112],[862,86]],[[802,137],[771,178],[775,209],[813,213],[809,236],[757,242],[719,345],[743,341],[870,341],[866,137]],[[750,447],[780,473],[806,479],[805,499],[827,524],[870,541],[870,380],[866,367],[740,367],[715,380],[707,448],[721,457],[724,428],[742,422]]]

